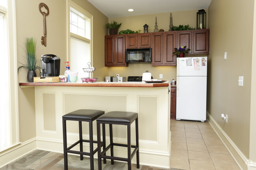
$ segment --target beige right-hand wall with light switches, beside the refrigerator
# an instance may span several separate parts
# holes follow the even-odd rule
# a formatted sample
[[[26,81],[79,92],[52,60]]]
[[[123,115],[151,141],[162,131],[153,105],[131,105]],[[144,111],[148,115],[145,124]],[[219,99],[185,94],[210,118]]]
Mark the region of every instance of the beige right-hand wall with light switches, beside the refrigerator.
[[[207,111],[249,158],[254,0],[212,0],[208,10]],[[238,86],[239,76],[244,76],[243,87]],[[228,123],[221,113],[228,115]]]

